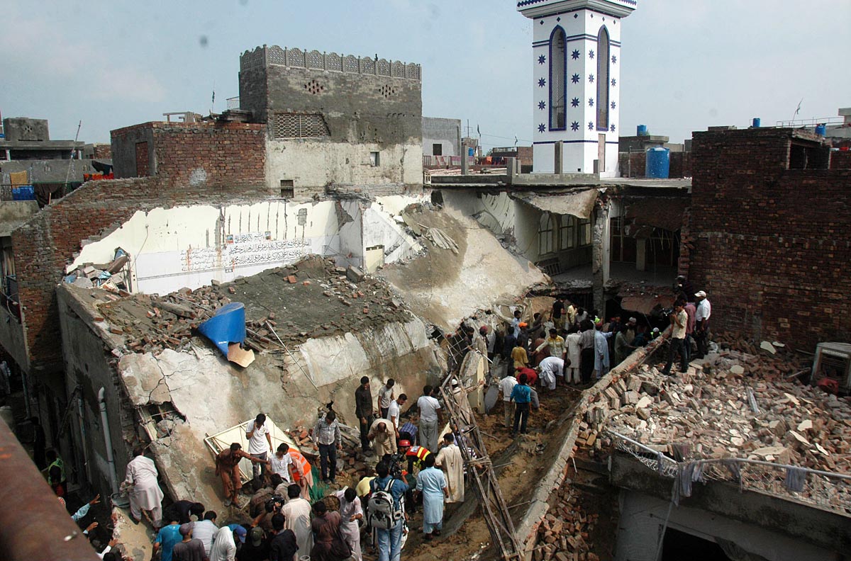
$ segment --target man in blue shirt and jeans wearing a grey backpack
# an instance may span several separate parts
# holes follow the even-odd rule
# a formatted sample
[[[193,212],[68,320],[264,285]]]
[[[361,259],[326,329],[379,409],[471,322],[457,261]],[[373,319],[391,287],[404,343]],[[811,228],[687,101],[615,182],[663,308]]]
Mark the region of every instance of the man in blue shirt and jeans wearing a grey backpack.
[[[378,533],[378,561],[399,561],[402,550],[402,531],[405,524],[403,496],[408,490],[408,479],[392,477],[385,462],[375,467],[378,477],[369,482],[369,524]]]

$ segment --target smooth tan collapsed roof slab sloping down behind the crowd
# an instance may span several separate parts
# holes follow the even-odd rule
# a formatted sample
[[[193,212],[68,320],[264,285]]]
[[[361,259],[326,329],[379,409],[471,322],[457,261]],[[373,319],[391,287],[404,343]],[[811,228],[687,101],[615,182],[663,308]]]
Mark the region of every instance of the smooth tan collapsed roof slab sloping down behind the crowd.
[[[490,230],[457,208],[424,210],[414,219],[448,235],[458,246],[457,253],[427,241],[425,255],[388,265],[378,275],[414,314],[444,330],[454,329],[480,309],[490,309],[494,302],[514,301],[529,286],[546,282],[533,263],[505,249]]]

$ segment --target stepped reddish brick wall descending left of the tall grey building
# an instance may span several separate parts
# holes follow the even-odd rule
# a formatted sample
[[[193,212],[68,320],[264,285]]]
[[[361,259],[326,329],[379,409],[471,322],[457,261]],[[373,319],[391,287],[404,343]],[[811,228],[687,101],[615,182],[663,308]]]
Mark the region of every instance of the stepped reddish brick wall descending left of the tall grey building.
[[[138,139],[154,140],[156,177],[90,181],[14,230],[31,371],[61,370],[55,288],[81,242],[100,238],[139,210],[265,200],[265,134],[264,125],[243,123],[145,123],[114,131],[114,152],[132,157],[123,162],[125,171],[135,172]]]

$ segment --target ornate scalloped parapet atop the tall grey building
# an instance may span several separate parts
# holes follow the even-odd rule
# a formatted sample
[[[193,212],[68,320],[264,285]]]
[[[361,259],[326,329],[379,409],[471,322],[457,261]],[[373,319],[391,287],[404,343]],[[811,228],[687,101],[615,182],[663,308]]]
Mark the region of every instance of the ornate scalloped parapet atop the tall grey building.
[[[300,48],[280,48],[277,45],[254,48],[245,51],[239,57],[239,70],[262,68],[269,65],[290,66],[331,72],[351,74],[371,74],[408,80],[421,80],[420,65],[401,60],[387,60],[374,57],[357,57],[353,54],[320,53]]]

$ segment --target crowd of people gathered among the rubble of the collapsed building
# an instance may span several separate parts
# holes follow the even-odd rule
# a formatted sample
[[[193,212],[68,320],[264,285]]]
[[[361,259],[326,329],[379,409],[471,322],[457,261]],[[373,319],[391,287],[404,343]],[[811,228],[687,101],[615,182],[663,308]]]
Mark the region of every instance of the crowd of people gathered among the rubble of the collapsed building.
[[[711,305],[703,291],[689,297],[690,286],[677,279],[677,301],[666,310],[671,324],[671,346],[665,374],[679,354],[680,370],[688,361],[706,354]],[[539,392],[558,385],[577,386],[605,375],[632,350],[660,336],[660,329],[639,326],[636,318],[621,321],[615,314],[604,322],[597,310],[588,311],[557,297],[544,314],[523,320],[517,309],[504,326],[478,330],[462,323],[448,337],[450,364],[460,365],[464,355],[477,352],[487,357],[490,371],[505,368],[498,381],[504,405],[505,429],[527,433],[529,413],[540,407]],[[696,351],[692,349],[695,343]],[[494,380],[495,381],[495,380]],[[484,382],[482,382],[484,383]],[[374,455],[370,473],[361,473],[357,484],[336,488],[337,453],[342,450],[340,423],[333,404],[318,416],[311,438],[318,448],[318,473],[329,492],[311,502],[313,467],[299,450],[286,443],[272,451],[271,424],[259,414],[245,426],[248,450],[233,443],[215,456],[215,473],[226,496],[225,505],[248,507],[251,522],[217,523],[218,514],[194,501],[177,501],[163,510],[163,491],[157,483],[157,467],[134,450],[123,490],[129,495],[130,516],[135,524],[147,519],[156,532],[151,559],[162,561],[361,561],[362,537],[377,550],[379,561],[397,561],[408,535],[408,522],[422,509],[423,540],[441,536],[444,505],[465,500],[465,428],[473,421],[467,394],[454,378],[448,383],[458,413],[449,432],[440,434],[445,403],[439,388],[430,385],[409,406],[408,395],[396,393],[387,380],[374,399],[370,380],[362,377],[354,393],[354,410],[360,428],[360,447]],[[412,404],[412,405],[414,405]],[[244,502],[240,462],[252,465],[254,494]],[[64,493],[61,462],[49,462],[49,477],[57,494]],[[259,487],[259,488],[257,488]],[[241,502],[243,499],[243,502]],[[82,519],[100,497],[72,516]],[[60,501],[62,501],[60,497]],[[92,530],[96,523],[86,530]],[[117,558],[111,544],[99,555]]]

